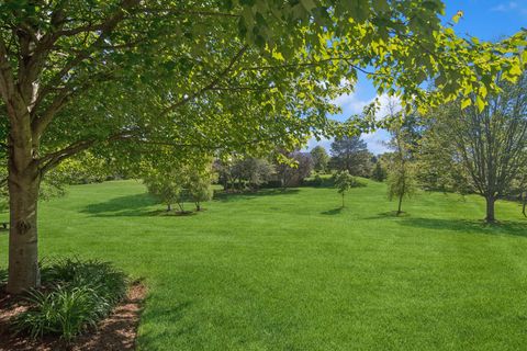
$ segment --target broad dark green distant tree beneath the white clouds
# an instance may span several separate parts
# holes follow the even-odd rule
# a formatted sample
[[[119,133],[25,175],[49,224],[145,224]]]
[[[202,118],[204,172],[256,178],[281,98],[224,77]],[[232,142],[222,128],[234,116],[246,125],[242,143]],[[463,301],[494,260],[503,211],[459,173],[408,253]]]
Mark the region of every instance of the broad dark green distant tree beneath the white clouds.
[[[372,154],[359,136],[343,137],[332,143],[332,167],[351,176],[369,177]]]

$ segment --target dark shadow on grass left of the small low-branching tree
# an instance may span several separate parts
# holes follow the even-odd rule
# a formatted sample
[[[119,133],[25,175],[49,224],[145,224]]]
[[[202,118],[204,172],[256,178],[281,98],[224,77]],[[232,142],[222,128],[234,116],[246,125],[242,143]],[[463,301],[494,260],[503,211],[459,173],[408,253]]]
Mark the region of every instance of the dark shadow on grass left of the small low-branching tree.
[[[80,212],[94,217],[145,216],[152,213],[147,208],[156,204],[156,200],[145,193],[119,196],[105,202],[90,204]]]

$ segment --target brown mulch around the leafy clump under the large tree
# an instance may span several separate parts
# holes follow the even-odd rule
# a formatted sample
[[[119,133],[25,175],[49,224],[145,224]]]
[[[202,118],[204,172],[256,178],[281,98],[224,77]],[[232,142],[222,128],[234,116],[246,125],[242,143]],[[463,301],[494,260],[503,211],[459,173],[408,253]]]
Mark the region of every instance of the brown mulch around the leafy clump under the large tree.
[[[135,349],[135,337],[146,296],[146,287],[134,283],[126,299],[119,305],[112,315],[101,321],[97,330],[90,330],[77,337],[72,343],[64,344],[58,338],[46,337],[43,340],[31,340],[22,336],[13,336],[9,328],[9,319],[26,309],[13,296],[0,291],[0,351],[122,351]]]

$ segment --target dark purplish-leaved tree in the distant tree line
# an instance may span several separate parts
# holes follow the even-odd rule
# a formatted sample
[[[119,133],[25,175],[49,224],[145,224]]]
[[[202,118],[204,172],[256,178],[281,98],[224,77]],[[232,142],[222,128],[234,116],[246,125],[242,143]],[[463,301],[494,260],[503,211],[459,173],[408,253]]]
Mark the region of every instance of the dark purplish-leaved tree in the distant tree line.
[[[311,176],[313,171],[313,158],[309,152],[289,152],[284,155],[292,159],[293,165],[278,163],[276,166],[277,174],[280,177],[282,186],[298,186],[302,181]]]

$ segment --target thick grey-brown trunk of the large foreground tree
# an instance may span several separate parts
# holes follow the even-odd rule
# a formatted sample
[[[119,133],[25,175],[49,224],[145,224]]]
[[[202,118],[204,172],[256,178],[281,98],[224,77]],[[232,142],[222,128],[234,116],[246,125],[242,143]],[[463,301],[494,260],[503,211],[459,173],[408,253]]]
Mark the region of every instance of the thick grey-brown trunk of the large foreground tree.
[[[36,222],[40,182],[40,170],[31,154],[27,155],[16,146],[11,146],[8,182],[10,228],[7,288],[11,294],[20,294],[41,284]]]

